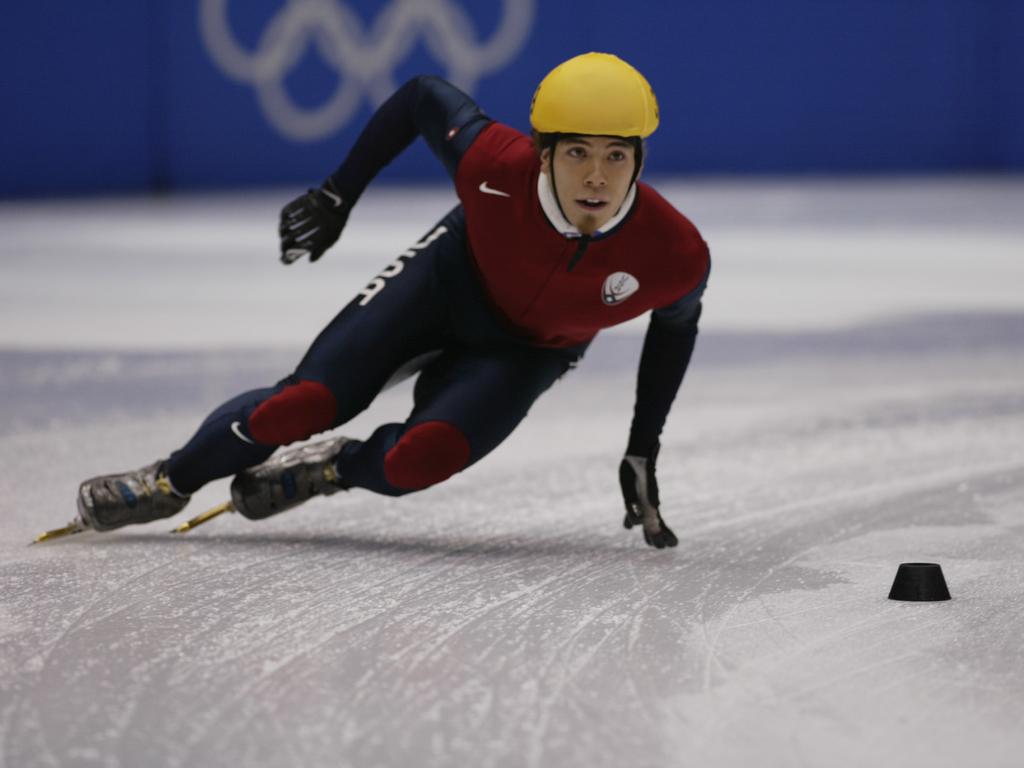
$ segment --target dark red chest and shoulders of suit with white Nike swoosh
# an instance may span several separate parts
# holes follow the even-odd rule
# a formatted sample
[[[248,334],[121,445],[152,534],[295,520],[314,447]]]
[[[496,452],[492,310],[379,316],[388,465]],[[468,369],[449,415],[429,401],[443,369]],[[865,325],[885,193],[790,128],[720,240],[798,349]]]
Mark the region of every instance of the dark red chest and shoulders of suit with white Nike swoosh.
[[[629,212],[607,232],[595,234],[569,271],[580,241],[565,237],[545,214],[540,173],[530,139],[492,123],[463,155],[456,174],[484,290],[532,343],[585,343],[603,328],[702,289],[710,265],[707,244],[689,219],[639,182]]]

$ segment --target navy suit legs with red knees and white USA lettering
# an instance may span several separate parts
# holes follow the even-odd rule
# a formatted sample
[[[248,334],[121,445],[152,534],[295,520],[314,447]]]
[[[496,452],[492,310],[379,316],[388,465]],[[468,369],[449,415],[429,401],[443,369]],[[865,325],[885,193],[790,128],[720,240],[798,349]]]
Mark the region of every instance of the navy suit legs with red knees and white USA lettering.
[[[291,376],[214,411],[171,456],[175,487],[190,494],[344,424],[426,356],[409,418],[346,444],[338,459],[344,484],[399,496],[482,459],[586,345],[524,343],[496,319],[474,270],[458,207],[356,295]]]

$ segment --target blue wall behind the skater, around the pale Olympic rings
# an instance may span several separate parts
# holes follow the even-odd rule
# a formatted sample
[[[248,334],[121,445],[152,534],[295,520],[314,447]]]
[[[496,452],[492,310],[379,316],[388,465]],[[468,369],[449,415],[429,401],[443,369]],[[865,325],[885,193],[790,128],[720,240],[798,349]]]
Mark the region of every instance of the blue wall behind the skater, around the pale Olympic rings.
[[[0,195],[307,183],[410,75],[461,65],[490,115],[526,129],[537,82],[592,49],[658,95],[652,173],[1024,169],[1021,0],[539,2],[11,5]],[[262,60],[232,65],[223,33]],[[508,50],[487,61],[497,34]],[[337,115],[303,123],[332,98]],[[418,147],[386,175],[441,173]]]

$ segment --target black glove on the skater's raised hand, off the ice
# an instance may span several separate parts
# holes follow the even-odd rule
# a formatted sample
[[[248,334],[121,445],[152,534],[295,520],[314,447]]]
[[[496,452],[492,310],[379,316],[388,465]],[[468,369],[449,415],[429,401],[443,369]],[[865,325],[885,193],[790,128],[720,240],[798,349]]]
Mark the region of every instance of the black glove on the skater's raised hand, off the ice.
[[[341,234],[351,210],[328,179],[281,209],[281,260],[286,264],[308,256],[316,261]]]

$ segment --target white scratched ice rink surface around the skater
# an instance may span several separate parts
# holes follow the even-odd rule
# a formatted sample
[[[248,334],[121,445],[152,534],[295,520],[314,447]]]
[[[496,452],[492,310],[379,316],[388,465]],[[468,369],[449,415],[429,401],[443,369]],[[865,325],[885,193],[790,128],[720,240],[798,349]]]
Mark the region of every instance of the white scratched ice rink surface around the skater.
[[[294,190],[0,206],[0,766],[1020,765],[1024,181],[660,188],[715,260],[673,551],[621,524],[642,323],[436,488],[27,546],[452,199],[371,190],[289,268]],[[953,599],[889,601],[907,561]]]

